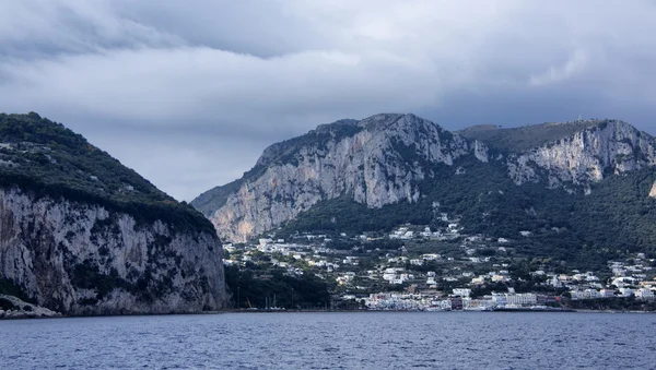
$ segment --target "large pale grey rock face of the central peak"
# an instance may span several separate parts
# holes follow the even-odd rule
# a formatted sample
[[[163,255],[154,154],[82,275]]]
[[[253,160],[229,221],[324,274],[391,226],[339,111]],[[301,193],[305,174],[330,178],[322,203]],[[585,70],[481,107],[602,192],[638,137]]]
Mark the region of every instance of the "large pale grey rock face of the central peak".
[[[432,176],[426,164],[450,166],[467,154],[489,159],[484,144],[414,115],[339,121],[267,148],[259,177],[243,181],[219,210],[201,211],[222,238],[244,241],[345,193],[370,207],[414,202],[417,183]]]

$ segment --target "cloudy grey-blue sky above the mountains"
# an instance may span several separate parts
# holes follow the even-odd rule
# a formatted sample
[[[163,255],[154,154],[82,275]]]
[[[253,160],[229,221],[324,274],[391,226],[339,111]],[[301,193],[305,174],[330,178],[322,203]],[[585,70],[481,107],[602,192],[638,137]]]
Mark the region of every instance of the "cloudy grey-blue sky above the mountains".
[[[0,111],[176,199],[320,123],[617,118],[656,134],[654,0],[0,0]]]

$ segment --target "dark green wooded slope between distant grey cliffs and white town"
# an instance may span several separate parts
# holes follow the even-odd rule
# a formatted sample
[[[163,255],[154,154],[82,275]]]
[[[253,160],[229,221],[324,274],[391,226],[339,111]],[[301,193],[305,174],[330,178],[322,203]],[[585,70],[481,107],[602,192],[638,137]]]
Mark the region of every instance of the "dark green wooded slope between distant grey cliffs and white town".
[[[454,176],[457,167],[466,172]],[[628,253],[656,253],[656,200],[647,196],[656,181],[653,168],[610,175],[589,195],[543,183],[518,187],[500,164],[471,157],[429,170],[433,178],[418,184],[425,196],[417,203],[368,208],[345,195],[316,204],[288,222],[280,235],[388,232],[407,223],[444,227],[444,212],[460,218],[461,234],[519,239],[519,255],[549,261],[554,268],[604,270],[607,261]]]

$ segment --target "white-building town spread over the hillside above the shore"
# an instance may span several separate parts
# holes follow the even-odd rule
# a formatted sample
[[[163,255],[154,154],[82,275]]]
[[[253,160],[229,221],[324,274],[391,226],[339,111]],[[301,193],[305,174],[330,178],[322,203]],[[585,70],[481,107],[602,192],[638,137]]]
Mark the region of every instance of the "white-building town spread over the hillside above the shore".
[[[270,279],[272,268],[314,274],[330,286],[331,309],[562,310],[576,301],[656,301],[653,256],[634,253],[599,271],[554,268],[548,259],[527,262],[520,254],[530,231],[514,239],[464,235],[457,218],[442,219],[441,228],[405,225],[386,235],[271,232],[224,244],[224,264],[257,279]],[[245,298],[256,309],[255,297]]]

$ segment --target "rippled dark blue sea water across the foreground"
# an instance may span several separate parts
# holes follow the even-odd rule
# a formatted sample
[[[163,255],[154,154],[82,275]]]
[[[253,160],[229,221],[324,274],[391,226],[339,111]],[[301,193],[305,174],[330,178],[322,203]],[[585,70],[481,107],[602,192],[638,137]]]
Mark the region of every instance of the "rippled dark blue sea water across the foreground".
[[[0,321],[2,369],[656,369],[656,315],[223,313]]]

